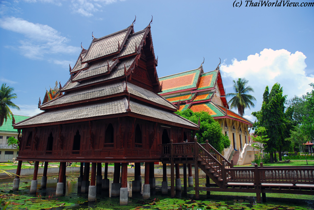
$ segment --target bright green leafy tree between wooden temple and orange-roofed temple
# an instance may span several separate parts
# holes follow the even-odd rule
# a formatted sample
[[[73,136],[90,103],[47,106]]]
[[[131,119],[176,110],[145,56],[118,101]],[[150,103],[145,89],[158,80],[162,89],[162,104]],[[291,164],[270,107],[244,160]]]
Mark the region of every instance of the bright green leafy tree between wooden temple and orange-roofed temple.
[[[224,148],[230,147],[228,136],[222,134],[219,123],[216,122],[208,112],[193,112],[191,109],[186,109],[184,111],[178,111],[177,114],[196,124],[200,119],[200,130],[196,131],[196,137],[199,143],[205,143],[206,140],[209,140],[209,144],[219,153],[221,153]]]

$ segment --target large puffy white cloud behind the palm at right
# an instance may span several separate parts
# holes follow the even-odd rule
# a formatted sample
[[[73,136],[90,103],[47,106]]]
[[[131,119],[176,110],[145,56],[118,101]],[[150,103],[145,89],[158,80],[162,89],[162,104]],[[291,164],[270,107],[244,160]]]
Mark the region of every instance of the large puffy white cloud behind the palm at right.
[[[294,95],[301,96],[311,90],[309,84],[314,82],[314,76],[306,76],[305,59],[306,56],[298,51],[290,53],[285,49],[264,49],[260,53],[249,55],[246,60],[238,61],[234,58],[230,65],[226,65],[224,61],[220,69],[223,78],[249,80],[249,85],[255,90],[252,95],[257,99],[253,110],[257,111],[261,109],[262,94],[267,85],[270,91],[278,82],[283,87],[287,99]],[[249,111],[246,110],[245,113],[248,114]]]

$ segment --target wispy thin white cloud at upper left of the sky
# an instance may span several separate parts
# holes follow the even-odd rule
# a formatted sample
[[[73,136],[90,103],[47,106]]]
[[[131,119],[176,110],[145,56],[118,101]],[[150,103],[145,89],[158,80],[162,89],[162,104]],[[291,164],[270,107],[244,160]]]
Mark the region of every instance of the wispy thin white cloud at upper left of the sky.
[[[48,25],[34,24],[21,18],[0,19],[0,27],[23,34],[27,39],[20,40],[19,49],[28,58],[41,59],[45,54],[78,53],[79,48],[69,46],[69,40]]]

